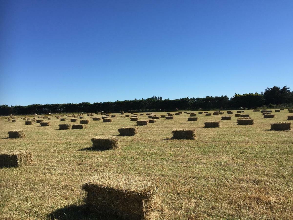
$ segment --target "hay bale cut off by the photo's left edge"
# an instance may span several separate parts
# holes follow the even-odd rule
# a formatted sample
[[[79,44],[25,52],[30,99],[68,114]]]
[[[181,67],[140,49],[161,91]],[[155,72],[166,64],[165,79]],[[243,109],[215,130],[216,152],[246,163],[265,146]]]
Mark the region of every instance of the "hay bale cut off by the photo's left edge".
[[[31,164],[33,157],[31,152],[14,151],[0,152],[0,167],[20,167]]]

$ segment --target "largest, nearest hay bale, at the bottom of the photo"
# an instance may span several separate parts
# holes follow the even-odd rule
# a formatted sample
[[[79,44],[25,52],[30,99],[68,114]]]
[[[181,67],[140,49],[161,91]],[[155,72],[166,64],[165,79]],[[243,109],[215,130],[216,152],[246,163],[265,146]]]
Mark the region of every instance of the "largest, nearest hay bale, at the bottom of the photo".
[[[86,204],[99,214],[115,215],[118,219],[161,219],[154,216],[158,209],[157,185],[149,178],[100,173],[82,185],[87,192]]]

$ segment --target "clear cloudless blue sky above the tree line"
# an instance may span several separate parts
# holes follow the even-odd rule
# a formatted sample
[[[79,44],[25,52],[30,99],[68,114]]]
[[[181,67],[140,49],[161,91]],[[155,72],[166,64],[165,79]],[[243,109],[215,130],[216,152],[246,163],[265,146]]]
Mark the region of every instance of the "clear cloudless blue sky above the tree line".
[[[0,2],[0,104],[293,87],[292,0]]]

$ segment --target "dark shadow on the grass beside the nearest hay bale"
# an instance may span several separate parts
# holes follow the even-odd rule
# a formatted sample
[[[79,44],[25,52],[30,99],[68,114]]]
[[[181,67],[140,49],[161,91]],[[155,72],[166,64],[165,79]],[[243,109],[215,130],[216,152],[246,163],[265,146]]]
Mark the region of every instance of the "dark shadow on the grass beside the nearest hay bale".
[[[64,208],[57,209],[47,215],[49,220],[120,220],[115,216],[102,215],[92,212],[88,206],[84,205],[70,205]]]

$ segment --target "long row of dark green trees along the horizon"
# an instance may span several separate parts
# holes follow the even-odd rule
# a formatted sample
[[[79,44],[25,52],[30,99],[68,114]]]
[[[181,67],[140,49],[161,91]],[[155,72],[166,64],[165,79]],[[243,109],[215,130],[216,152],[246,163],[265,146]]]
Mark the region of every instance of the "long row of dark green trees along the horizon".
[[[33,104],[27,106],[0,106],[0,115],[19,115],[19,114],[46,114],[60,112],[120,112],[120,111],[174,111],[174,109],[190,110],[212,110],[226,108],[257,108],[263,105],[271,107],[275,105],[293,105],[293,92],[290,88],[284,86],[274,86],[265,89],[265,92],[235,94],[231,99],[227,96],[207,96],[205,98],[181,98],[181,99],[163,99],[153,96],[148,99],[134,99],[124,101],[107,102],[82,102],[78,104]]]

